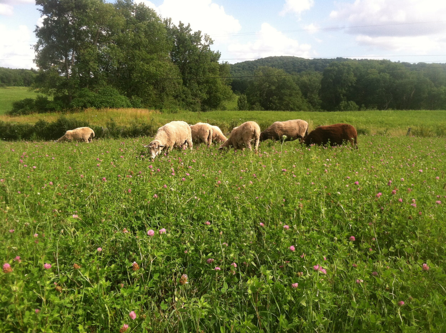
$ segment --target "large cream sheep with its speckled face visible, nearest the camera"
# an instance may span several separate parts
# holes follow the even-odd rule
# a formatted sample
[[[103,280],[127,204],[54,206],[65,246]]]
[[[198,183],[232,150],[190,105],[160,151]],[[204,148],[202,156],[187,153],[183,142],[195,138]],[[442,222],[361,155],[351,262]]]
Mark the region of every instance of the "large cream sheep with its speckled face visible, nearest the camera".
[[[186,149],[187,146],[192,149],[189,125],[184,121],[171,121],[158,128],[152,142],[144,147],[149,148],[150,157],[154,159],[162,150],[166,149],[168,155],[174,147]]]

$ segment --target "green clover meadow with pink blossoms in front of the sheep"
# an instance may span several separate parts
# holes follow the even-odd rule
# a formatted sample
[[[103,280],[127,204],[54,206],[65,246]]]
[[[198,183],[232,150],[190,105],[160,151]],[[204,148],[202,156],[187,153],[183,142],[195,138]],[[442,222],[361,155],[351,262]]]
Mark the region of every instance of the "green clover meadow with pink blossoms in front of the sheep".
[[[1,332],[446,329],[444,138],[154,161],[145,141],[0,143]]]

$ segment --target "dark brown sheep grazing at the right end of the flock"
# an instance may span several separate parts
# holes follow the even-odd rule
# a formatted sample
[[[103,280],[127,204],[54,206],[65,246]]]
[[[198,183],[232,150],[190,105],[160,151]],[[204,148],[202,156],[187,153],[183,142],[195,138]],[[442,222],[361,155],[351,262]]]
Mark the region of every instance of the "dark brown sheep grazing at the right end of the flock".
[[[335,146],[342,144],[343,141],[350,141],[352,147],[354,144],[358,148],[357,137],[358,133],[355,127],[349,124],[334,124],[316,127],[301,139],[300,142],[307,146],[310,144],[328,144],[330,142],[331,146]]]

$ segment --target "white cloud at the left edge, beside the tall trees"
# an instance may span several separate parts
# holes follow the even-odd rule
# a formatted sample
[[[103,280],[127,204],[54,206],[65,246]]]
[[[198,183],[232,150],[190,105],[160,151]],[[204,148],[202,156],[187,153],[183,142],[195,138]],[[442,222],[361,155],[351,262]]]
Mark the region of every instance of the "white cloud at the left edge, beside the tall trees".
[[[0,24],[0,59],[2,67],[31,68],[33,65],[34,50],[31,49],[30,40],[32,31],[25,25],[17,29],[8,29]]]

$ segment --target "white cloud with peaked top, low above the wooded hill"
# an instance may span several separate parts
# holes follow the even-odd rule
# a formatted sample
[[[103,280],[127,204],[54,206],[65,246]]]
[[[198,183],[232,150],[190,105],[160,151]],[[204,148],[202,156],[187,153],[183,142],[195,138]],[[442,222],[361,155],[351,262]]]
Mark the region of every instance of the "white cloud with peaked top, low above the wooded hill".
[[[228,51],[234,58],[244,59],[282,55],[310,58],[311,45],[299,44],[268,23],[263,23],[255,41],[228,45]]]

